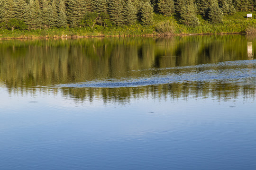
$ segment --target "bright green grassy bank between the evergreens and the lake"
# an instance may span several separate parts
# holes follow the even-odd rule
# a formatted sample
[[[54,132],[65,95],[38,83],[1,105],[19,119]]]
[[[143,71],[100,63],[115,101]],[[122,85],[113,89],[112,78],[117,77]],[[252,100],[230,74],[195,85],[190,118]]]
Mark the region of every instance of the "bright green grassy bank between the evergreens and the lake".
[[[10,38],[65,38],[65,37],[91,37],[91,36],[152,36],[159,35],[156,27],[160,23],[171,23],[173,34],[233,34],[233,33],[256,33],[256,12],[253,13],[253,19],[247,19],[247,13],[251,11],[237,12],[234,15],[224,16],[223,22],[212,25],[208,20],[200,15],[200,25],[196,27],[184,26],[179,23],[176,16],[165,17],[161,14],[154,14],[153,26],[142,26],[135,24],[133,26],[106,27],[95,26],[81,28],[53,28],[38,30],[0,30],[0,39]]]

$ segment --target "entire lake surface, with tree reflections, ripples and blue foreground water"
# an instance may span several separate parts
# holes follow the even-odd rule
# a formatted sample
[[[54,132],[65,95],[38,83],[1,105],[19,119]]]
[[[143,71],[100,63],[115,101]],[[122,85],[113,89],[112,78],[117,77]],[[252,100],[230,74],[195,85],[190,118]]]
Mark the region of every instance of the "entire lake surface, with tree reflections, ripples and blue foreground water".
[[[256,35],[0,41],[1,170],[256,169]]]

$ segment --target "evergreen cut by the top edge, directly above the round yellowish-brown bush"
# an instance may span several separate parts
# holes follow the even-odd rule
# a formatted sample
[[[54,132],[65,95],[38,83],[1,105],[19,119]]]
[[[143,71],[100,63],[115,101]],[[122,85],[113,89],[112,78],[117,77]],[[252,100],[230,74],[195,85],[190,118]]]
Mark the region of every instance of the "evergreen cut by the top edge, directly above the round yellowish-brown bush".
[[[174,13],[174,0],[159,0],[157,3],[158,11],[163,15],[171,16]]]

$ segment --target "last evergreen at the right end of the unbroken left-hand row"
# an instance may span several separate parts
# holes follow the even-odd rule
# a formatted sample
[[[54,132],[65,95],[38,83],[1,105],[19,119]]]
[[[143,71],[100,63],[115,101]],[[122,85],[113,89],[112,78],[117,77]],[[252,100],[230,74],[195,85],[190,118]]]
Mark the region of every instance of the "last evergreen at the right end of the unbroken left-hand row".
[[[153,7],[151,4],[146,1],[143,7],[141,8],[141,21],[143,25],[152,25],[153,24]]]

